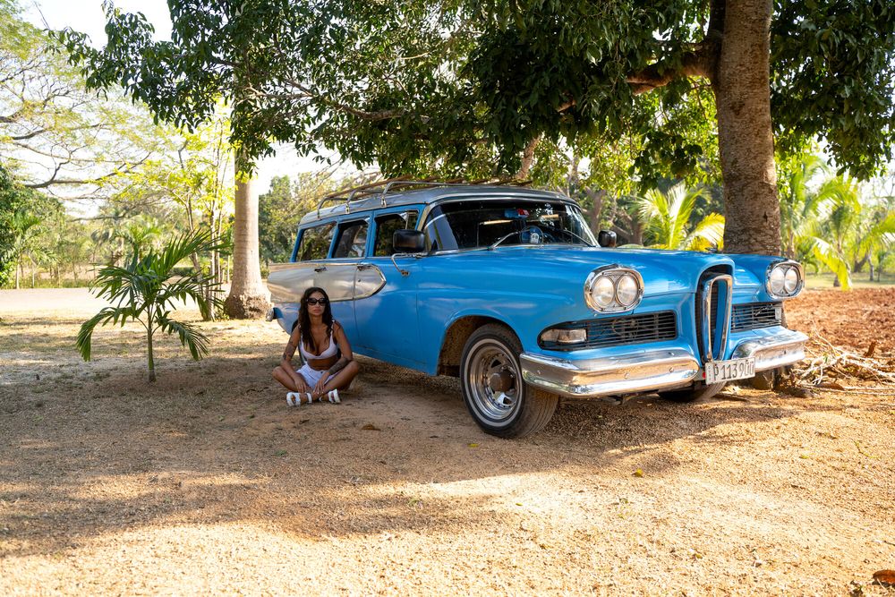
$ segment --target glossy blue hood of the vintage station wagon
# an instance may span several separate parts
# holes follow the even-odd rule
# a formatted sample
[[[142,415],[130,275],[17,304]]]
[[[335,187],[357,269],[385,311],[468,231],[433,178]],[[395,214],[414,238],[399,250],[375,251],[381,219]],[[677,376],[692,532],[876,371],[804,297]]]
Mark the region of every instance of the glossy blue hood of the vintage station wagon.
[[[738,268],[734,258],[708,252],[658,251],[652,249],[603,249],[599,247],[512,246],[494,251],[440,254],[437,259],[456,261],[452,270],[505,272],[517,279],[555,280],[557,286],[583,285],[593,269],[618,264],[636,269],[644,277],[645,294],[695,292],[700,274],[707,268],[727,265],[734,269],[734,286],[745,290],[760,286],[754,273]],[[452,264],[455,265],[455,264]]]

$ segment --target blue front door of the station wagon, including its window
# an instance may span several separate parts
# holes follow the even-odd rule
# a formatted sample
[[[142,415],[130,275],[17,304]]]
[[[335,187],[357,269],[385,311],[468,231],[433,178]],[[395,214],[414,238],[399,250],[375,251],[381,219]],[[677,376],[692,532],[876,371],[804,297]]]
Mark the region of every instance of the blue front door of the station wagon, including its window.
[[[418,367],[420,329],[416,317],[418,260],[396,257],[392,235],[415,228],[418,208],[383,209],[373,214],[370,255],[362,259],[355,277],[354,319],[357,344],[363,354],[389,362]],[[362,294],[373,282],[383,280],[379,292]]]

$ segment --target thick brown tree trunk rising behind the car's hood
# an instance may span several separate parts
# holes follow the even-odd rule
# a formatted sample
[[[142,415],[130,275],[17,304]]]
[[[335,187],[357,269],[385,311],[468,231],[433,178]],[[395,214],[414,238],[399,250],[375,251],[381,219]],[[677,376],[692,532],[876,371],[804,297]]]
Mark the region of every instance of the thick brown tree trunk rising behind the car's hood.
[[[780,201],[771,133],[771,0],[724,3],[712,81],[724,178],[724,250],[780,254]]]

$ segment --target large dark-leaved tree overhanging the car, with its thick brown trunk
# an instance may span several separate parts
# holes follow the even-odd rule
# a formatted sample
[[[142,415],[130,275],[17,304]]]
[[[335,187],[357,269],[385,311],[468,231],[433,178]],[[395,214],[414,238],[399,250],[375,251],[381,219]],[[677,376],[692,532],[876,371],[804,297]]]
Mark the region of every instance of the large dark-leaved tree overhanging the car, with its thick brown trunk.
[[[121,83],[167,120],[196,124],[223,94],[248,160],[289,141],[386,174],[510,174],[541,139],[635,135],[649,183],[700,167],[711,141],[690,131],[717,108],[725,244],[776,251],[771,100],[786,147],[822,137],[862,177],[891,158],[888,0],[169,5],[171,42],[111,6],[107,47],[64,39],[91,86]]]

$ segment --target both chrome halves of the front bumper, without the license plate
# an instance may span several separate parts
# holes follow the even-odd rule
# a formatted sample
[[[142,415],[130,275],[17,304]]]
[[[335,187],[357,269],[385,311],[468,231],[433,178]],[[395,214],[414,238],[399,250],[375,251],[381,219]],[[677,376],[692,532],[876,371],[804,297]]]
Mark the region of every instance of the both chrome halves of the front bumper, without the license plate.
[[[755,358],[755,371],[766,371],[805,358],[805,334],[783,330],[772,337],[740,342],[730,358]],[[639,351],[573,361],[543,354],[519,355],[522,377],[538,388],[566,397],[602,397],[684,388],[703,380],[700,362],[686,350]]]

